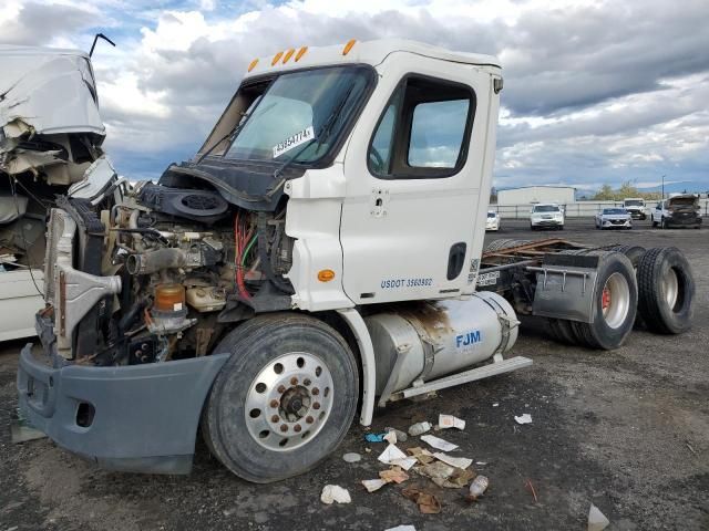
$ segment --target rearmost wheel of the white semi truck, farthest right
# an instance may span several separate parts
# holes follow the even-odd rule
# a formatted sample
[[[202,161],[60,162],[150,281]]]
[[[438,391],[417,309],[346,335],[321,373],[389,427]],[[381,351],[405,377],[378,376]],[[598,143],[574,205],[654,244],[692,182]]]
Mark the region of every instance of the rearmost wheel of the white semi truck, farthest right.
[[[638,266],[638,310],[648,330],[679,334],[691,326],[695,279],[675,247],[647,251]]]

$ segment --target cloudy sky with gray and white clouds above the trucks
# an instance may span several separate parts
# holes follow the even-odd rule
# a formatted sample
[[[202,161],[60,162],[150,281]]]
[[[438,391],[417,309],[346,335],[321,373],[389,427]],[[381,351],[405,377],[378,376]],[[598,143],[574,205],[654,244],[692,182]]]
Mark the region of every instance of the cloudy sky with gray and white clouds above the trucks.
[[[189,158],[248,62],[351,38],[495,54],[495,184],[709,183],[707,0],[0,2],[0,42],[88,50],[120,171]],[[706,186],[706,185],[705,185]]]

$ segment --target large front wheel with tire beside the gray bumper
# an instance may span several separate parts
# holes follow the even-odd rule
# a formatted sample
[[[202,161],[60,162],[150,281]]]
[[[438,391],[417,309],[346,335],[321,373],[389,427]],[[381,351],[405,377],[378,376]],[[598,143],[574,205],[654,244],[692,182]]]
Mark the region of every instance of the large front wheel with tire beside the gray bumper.
[[[342,441],[359,396],[357,362],[342,336],[307,315],[255,317],[215,352],[232,356],[203,413],[214,456],[257,483],[304,473]]]

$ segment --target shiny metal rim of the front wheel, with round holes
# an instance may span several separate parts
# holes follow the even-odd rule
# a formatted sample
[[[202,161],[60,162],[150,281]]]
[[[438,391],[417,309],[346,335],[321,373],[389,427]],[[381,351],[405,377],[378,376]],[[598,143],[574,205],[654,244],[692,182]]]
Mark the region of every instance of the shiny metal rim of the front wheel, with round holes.
[[[332,409],[332,375],[318,356],[290,352],[274,358],[254,378],[244,416],[263,448],[289,451],[322,429]]]

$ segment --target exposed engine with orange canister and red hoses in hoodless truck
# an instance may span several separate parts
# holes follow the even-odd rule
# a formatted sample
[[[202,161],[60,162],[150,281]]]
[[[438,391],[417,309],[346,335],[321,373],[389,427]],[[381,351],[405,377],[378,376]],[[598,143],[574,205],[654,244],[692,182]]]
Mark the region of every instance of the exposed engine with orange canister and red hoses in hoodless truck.
[[[101,222],[100,274],[119,275],[122,283],[113,302],[102,299],[91,310],[95,319],[82,319],[74,331],[76,360],[115,365],[202,356],[229,323],[290,308],[285,201],[274,212],[254,212],[216,191],[147,181],[114,197],[104,194],[96,206],[65,201],[73,217]],[[88,236],[79,238],[80,247],[90,253],[99,229],[92,233],[89,219],[83,225]],[[85,257],[83,263],[89,272]]]

